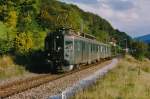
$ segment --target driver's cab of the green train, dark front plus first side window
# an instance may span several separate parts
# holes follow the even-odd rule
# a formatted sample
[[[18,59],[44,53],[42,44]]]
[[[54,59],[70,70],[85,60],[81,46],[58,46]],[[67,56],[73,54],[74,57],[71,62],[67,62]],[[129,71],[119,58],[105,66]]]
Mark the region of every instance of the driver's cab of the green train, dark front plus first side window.
[[[45,39],[46,63],[51,65],[53,71],[68,71],[73,53],[73,40],[66,36],[69,29],[61,28],[48,33]]]

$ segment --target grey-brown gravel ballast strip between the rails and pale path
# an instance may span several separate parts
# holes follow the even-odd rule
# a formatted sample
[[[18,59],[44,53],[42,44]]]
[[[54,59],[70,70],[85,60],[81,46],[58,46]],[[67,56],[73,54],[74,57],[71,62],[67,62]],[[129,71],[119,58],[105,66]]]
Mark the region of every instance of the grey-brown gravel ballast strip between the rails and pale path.
[[[71,87],[80,80],[94,74],[97,70],[100,70],[102,67],[110,64],[111,62],[112,61],[101,63],[97,66],[73,73],[5,99],[47,99],[52,95],[61,94],[66,88]]]

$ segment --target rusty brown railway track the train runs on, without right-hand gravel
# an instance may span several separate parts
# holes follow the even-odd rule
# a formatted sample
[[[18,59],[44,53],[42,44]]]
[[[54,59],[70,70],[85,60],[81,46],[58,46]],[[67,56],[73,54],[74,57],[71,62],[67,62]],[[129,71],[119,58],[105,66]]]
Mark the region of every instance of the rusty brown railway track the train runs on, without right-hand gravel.
[[[32,78],[27,78],[25,80],[13,81],[13,82],[8,83],[6,85],[0,86],[0,99],[9,97],[11,95],[14,95],[14,94],[17,94],[17,93],[20,93],[23,91],[26,91],[26,90],[31,89],[31,88],[38,87],[42,84],[57,80],[59,78],[68,76],[68,75],[76,73],[78,71],[92,68],[93,66],[99,65],[100,63],[101,62],[81,66],[80,69],[76,69],[74,71],[67,72],[64,74],[45,74],[45,75],[40,75],[40,76],[36,76],[36,77],[32,77]]]

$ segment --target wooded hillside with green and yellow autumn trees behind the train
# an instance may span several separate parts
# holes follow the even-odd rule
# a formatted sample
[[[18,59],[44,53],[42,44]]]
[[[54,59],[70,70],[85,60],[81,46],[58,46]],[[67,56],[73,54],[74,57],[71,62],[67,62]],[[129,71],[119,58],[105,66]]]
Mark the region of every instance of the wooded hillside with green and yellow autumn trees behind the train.
[[[58,27],[93,34],[102,42],[130,39],[98,15],[56,0],[0,0],[0,50],[27,53],[44,47],[44,38]]]

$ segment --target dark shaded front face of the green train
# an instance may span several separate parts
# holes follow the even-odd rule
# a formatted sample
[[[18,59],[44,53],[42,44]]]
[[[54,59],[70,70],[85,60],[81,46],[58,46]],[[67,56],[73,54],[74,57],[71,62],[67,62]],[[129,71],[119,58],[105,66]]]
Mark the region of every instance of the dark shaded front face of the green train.
[[[51,70],[54,72],[70,70],[68,68],[69,61],[64,57],[64,54],[66,54],[65,33],[66,30],[59,29],[56,32],[49,33],[45,39],[46,63],[51,66]]]

